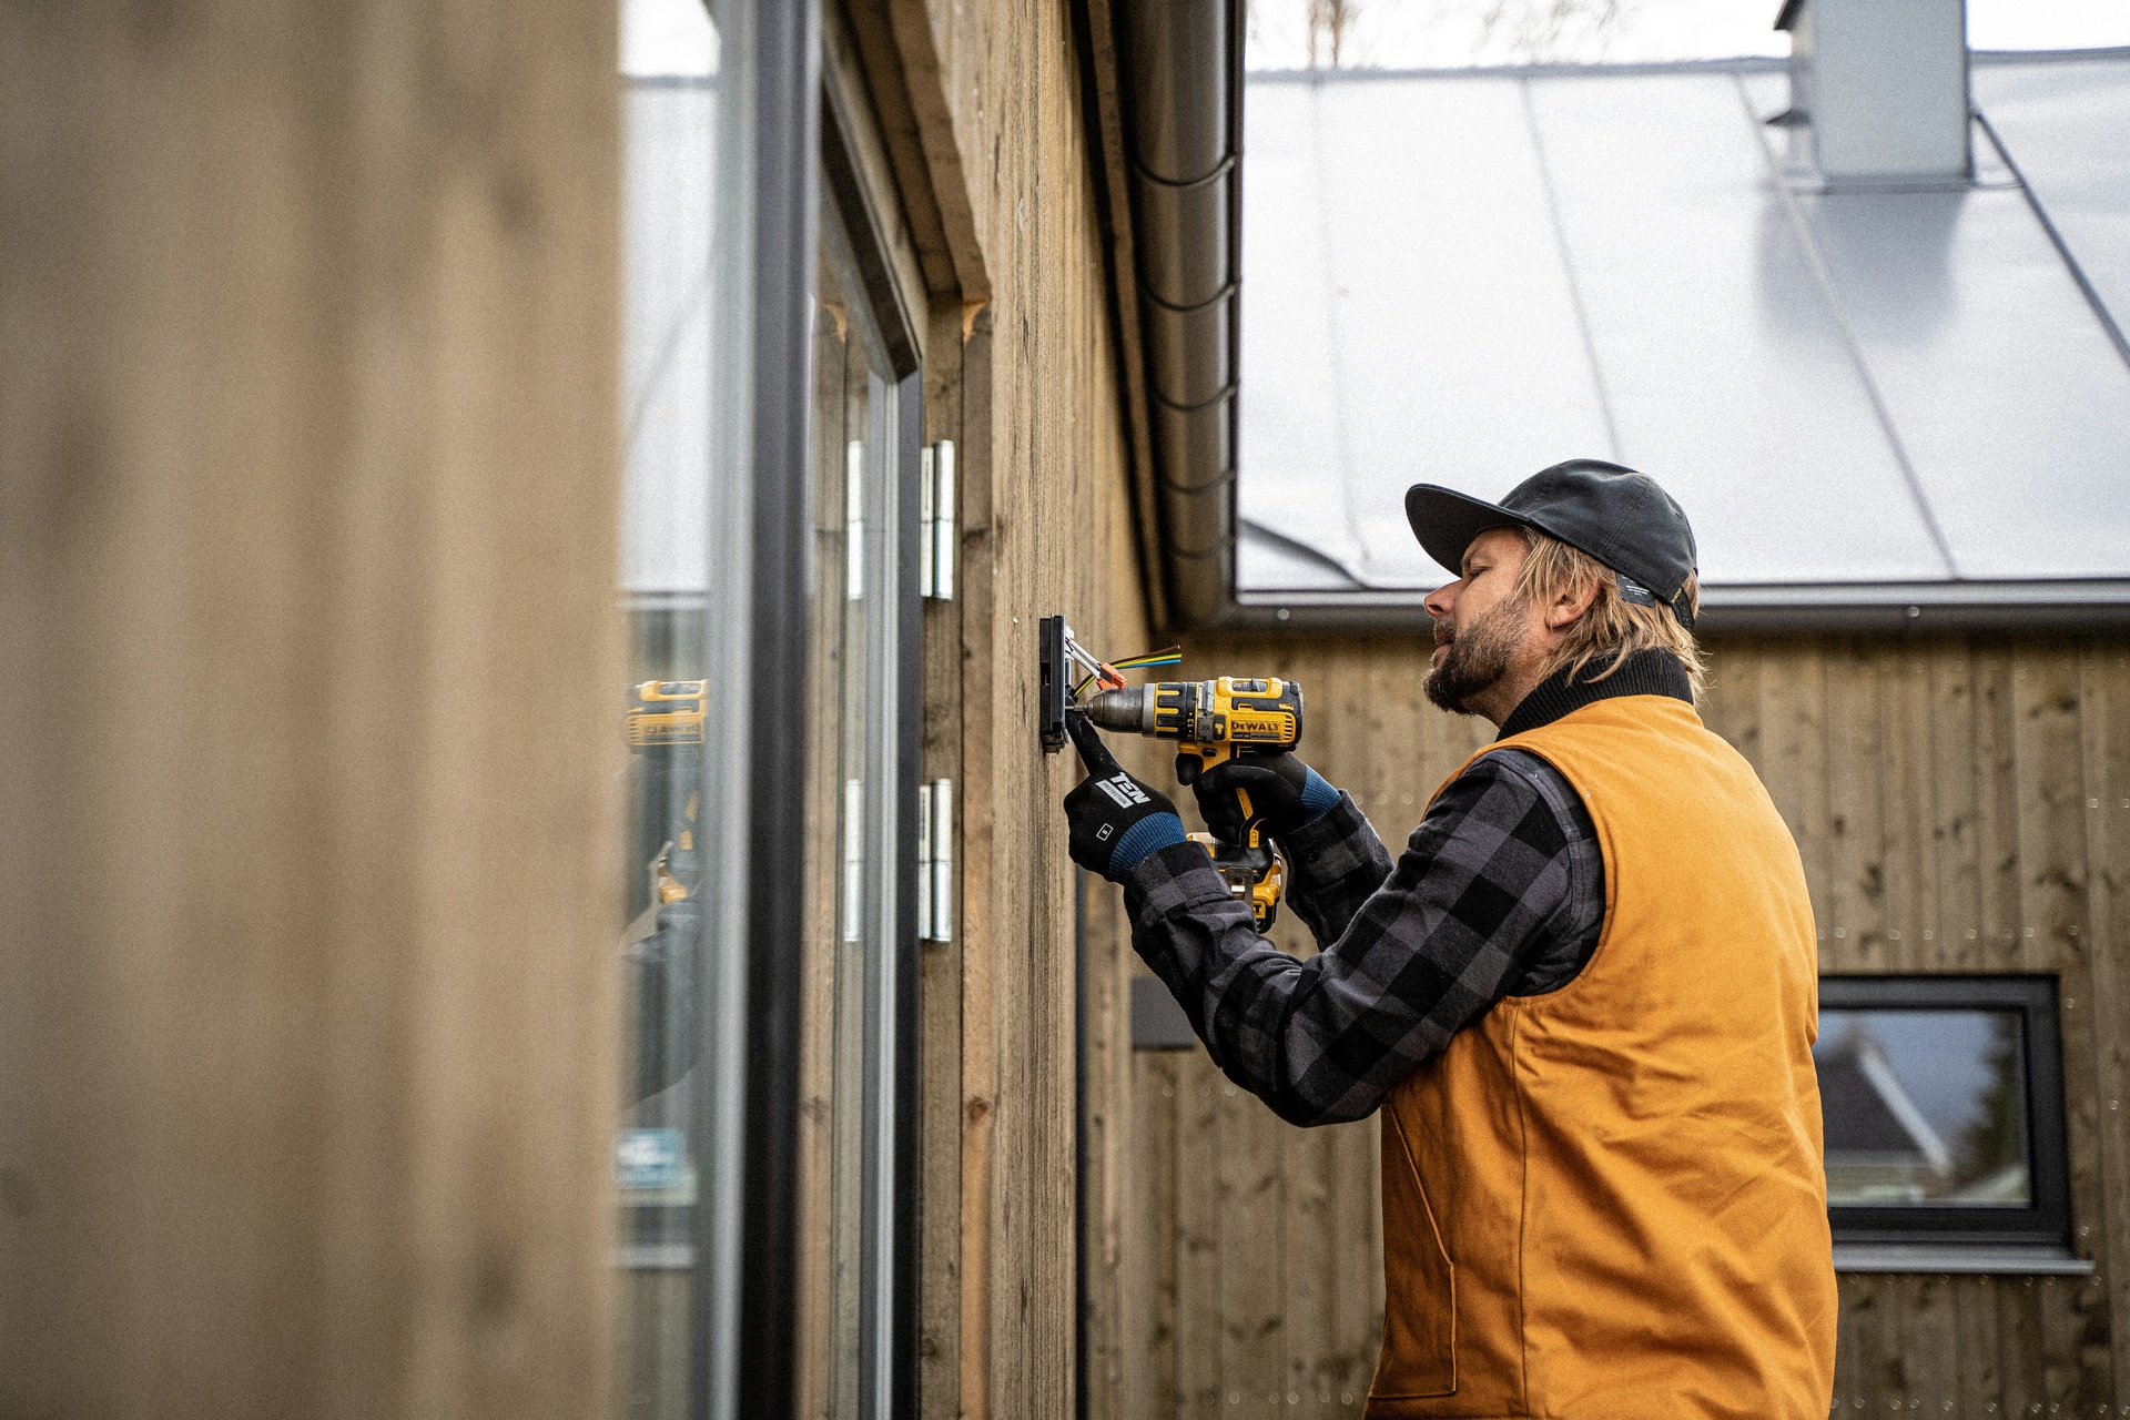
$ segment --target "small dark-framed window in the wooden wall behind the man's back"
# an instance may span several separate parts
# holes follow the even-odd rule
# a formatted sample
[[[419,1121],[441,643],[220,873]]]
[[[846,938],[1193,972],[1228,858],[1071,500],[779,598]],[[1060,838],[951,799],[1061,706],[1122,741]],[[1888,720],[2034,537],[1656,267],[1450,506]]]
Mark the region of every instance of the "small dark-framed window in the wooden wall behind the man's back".
[[[1821,977],[1836,1243],[2064,1248],[2053,977]]]

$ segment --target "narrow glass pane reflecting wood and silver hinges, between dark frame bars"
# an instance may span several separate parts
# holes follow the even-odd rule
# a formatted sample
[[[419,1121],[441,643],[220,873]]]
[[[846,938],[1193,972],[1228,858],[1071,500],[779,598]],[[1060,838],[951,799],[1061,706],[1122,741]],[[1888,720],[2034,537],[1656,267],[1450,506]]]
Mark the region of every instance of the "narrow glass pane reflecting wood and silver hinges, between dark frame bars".
[[[835,138],[831,136],[831,143]],[[856,230],[854,230],[856,228]],[[805,1414],[895,1414],[912,1363],[901,1305],[916,1199],[901,1162],[914,973],[916,370],[897,370],[858,270],[867,230],[820,217],[814,319],[814,624],[809,666],[807,1226],[818,1375]],[[878,268],[878,264],[875,264]]]

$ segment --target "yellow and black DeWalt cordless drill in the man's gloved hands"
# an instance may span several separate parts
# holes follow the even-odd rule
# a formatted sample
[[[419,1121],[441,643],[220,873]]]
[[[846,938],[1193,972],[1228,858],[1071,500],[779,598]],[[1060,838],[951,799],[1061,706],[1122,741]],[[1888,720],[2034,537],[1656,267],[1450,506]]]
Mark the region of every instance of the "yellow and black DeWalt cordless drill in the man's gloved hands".
[[[1176,779],[1182,783],[1195,783],[1238,754],[1280,754],[1301,743],[1301,686],[1278,677],[1150,681],[1101,690],[1080,709],[1103,730],[1178,741]],[[1227,890],[1250,905],[1257,930],[1265,932],[1280,913],[1284,864],[1250,809],[1250,794],[1235,790],[1235,798],[1242,800],[1242,843],[1223,843],[1210,832],[1191,839],[1206,845]]]

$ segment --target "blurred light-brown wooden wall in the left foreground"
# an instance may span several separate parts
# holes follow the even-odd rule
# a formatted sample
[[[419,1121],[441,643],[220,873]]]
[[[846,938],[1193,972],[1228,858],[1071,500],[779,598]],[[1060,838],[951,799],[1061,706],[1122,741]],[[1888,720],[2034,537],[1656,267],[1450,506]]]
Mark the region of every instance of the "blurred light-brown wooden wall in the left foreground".
[[[0,9],[0,1414],[601,1414],[613,4]]]

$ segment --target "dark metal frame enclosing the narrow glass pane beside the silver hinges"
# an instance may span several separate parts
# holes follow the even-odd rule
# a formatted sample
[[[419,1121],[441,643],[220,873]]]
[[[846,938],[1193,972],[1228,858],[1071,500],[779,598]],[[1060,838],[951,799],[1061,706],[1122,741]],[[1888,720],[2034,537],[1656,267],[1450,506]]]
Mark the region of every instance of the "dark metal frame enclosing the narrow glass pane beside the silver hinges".
[[[899,294],[884,290],[886,243],[878,215],[865,200],[850,162],[850,115],[835,98],[822,98],[822,15],[818,0],[752,4],[714,0],[731,77],[720,104],[720,192],[733,194],[720,207],[720,251],[735,253],[733,281],[722,307],[720,330],[746,332],[743,351],[726,351],[733,398],[743,407],[739,458],[752,507],[752,577],[748,626],[748,724],[746,786],[750,822],[743,873],[746,922],[746,1050],[737,1052],[743,1079],[739,1101],[739,1179],[733,1218],[716,1207],[697,1209],[697,1256],[720,1256],[720,1228],[735,1228],[737,1252],[731,1335],[711,1286],[697,1286],[692,1322],[690,1414],[701,1420],[722,1416],[790,1416],[799,1377],[799,1081],[801,1003],[807,920],[801,894],[790,892],[790,866],[805,856],[807,822],[794,783],[805,777],[805,722],[790,707],[805,700],[807,634],[812,605],[812,300],[816,213],[822,198],[850,238],[850,255],[861,268],[863,294],[890,351],[897,464],[897,543],[916,547],[918,466],[922,443],[922,377],[916,339]],[[824,113],[826,111],[826,113]],[[728,166],[726,166],[728,164]],[[743,224],[743,226],[739,226]],[[741,319],[746,307],[746,319]],[[899,558],[895,694],[903,709],[897,722],[897,781],[918,781],[922,649],[922,600],[916,588],[916,556]],[[705,781],[705,788],[709,783]],[[899,881],[914,888],[916,798],[897,805]],[[918,1092],[918,943],[916,894],[897,894],[895,969],[907,990],[897,994],[897,1118],[916,1120]],[[716,1022],[699,1022],[705,1033],[699,1056],[709,1060]],[[716,1137],[716,1113],[703,1092],[699,1135]],[[890,1394],[882,1407],[892,1416],[916,1414],[916,1282],[918,1282],[918,1179],[920,1158],[914,1130],[899,1130],[895,1158],[892,1237],[892,1337]],[[709,1279],[703,1279],[709,1282]],[[728,1369],[726,1369],[728,1367]]]

